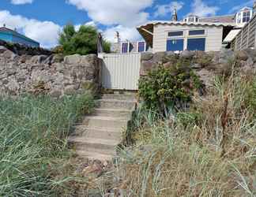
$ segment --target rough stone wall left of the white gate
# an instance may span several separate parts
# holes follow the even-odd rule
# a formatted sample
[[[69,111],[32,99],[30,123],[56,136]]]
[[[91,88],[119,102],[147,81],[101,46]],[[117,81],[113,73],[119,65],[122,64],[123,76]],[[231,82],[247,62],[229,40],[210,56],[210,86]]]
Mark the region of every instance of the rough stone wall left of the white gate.
[[[100,59],[95,54],[17,55],[0,48],[0,95],[76,94],[100,84]]]

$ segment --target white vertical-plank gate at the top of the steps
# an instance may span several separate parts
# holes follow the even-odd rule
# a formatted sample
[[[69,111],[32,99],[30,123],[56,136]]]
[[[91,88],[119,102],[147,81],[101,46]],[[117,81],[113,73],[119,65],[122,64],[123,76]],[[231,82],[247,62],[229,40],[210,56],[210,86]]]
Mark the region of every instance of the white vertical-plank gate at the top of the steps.
[[[104,63],[102,86],[114,90],[137,90],[140,77],[141,54],[99,54]]]

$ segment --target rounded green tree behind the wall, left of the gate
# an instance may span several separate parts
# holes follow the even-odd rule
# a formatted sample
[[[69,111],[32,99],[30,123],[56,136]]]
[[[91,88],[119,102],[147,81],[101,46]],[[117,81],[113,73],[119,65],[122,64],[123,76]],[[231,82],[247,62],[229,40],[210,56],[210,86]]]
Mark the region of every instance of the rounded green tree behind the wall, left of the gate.
[[[98,32],[93,26],[82,25],[76,32],[73,24],[67,24],[59,35],[59,44],[55,51],[64,55],[97,54]],[[104,52],[110,52],[111,45],[104,40]]]

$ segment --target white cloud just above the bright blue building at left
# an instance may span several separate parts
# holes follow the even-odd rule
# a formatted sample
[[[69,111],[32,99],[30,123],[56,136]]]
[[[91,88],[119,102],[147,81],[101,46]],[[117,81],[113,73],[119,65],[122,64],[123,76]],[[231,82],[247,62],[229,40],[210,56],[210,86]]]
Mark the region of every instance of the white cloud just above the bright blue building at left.
[[[12,15],[7,10],[0,10],[0,26],[17,28],[24,35],[40,42],[41,46],[50,48],[58,43],[58,33],[62,27],[51,21],[28,19],[20,15]]]

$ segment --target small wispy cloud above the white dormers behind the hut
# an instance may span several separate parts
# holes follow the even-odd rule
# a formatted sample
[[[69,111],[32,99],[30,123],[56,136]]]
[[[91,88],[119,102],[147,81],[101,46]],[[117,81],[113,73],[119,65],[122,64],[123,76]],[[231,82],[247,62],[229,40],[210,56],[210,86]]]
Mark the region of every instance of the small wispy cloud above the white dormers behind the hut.
[[[194,13],[199,17],[208,17],[216,15],[216,12],[219,9],[220,8],[216,6],[208,6],[205,2],[202,2],[202,0],[194,0],[194,2],[192,3],[191,13]]]

